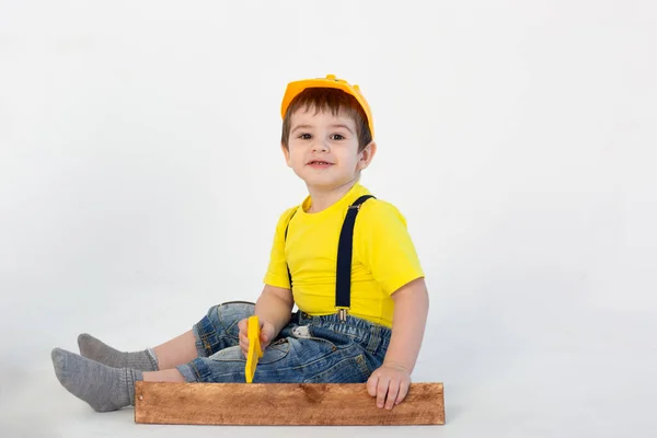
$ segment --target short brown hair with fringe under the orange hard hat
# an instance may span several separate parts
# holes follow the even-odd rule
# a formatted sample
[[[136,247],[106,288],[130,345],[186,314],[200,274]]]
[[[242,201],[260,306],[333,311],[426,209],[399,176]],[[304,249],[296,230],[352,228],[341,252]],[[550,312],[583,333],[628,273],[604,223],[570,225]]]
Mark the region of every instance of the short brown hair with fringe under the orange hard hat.
[[[291,116],[299,108],[308,111],[314,108],[315,114],[320,111],[327,111],[334,116],[344,114],[347,117],[350,117],[356,124],[358,152],[361,152],[372,141],[372,134],[368,125],[367,115],[356,97],[337,89],[310,88],[295,96],[285,113],[280,142],[286,149],[289,148],[288,141],[290,137]]]

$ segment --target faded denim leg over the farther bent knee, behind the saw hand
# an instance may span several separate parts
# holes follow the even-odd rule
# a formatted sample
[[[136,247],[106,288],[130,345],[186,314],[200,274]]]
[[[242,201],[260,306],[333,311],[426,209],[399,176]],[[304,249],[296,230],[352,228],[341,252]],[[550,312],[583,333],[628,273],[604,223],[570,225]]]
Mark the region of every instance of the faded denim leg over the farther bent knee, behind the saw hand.
[[[207,314],[193,326],[196,350],[199,357],[240,344],[238,323],[253,315],[255,304],[247,301],[229,301],[212,306]]]

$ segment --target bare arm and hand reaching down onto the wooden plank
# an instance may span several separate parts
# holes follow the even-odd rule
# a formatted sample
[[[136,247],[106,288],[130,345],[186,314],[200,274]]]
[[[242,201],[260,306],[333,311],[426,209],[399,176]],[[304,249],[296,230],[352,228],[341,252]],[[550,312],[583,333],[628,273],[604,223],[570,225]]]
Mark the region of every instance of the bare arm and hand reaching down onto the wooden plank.
[[[388,410],[400,404],[408,393],[429,309],[424,278],[401,287],[392,298],[394,316],[390,345],[383,365],[367,382],[368,393],[377,397],[377,405]]]

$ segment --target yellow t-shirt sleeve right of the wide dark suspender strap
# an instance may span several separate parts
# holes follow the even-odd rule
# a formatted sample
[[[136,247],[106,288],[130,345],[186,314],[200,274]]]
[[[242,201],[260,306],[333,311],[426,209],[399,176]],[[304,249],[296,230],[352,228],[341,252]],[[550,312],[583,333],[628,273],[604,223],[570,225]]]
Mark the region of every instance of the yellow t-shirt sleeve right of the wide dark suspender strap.
[[[385,293],[424,277],[406,219],[393,205],[367,201],[356,218],[354,240],[354,251]]]

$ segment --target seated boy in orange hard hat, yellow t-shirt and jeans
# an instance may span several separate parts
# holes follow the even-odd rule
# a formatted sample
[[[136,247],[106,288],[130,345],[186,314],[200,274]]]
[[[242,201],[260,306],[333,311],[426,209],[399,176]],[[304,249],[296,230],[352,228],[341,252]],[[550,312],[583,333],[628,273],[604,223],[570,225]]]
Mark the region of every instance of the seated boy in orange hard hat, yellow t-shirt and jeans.
[[[215,306],[142,351],[88,334],[81,356],[55,348],[57,378],[95,411],[134,405],[137,380],[244,382],[252,314],[264,350],[253,382],[367,382],[388,410],[405,397],[428,295],[405,219],[359,183],[377,150],[369,105],[330,74],[289,83],[281,115],[284,157],[309,195],[278,220],[257,302]]]

